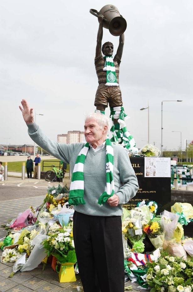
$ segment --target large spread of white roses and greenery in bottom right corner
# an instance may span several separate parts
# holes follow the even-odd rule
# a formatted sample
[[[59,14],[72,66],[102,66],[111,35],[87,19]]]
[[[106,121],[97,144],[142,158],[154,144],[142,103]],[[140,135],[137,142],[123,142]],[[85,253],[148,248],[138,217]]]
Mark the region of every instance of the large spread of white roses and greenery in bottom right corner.
[[[151,292],[191,292],[193,262],[163,254],[154,262],[147,262],[147,284]]]

